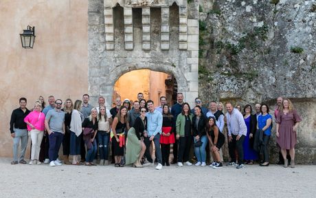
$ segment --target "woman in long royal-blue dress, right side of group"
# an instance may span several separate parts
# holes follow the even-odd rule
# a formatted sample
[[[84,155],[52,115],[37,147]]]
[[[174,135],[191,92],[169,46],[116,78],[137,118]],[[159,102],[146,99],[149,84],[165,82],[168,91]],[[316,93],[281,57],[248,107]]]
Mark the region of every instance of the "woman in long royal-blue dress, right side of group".
[[[256,115],[252,115],[251,112],[251,105],[246,104],[244,108],[244,120],[247,126],[247,136],[245,137],[245,141],[243,144],[245,164],[253,164],[253,161],[258,159],[258,154],[253,149],[253,137],[254,133],[256,133],[257,118]]]

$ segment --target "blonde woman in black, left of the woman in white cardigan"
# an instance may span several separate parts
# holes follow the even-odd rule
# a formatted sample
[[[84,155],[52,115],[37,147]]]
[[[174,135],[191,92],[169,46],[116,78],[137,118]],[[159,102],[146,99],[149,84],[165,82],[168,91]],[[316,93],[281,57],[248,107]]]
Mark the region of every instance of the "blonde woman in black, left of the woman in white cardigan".
[[[69,153],[70,153],[70,122],[71,122],[71,113],[74,109],[74,103],[70,98],[67,98],[65,101],[65,106],[63,111],[65,112],[65,135],[63,139],[63,155],[64,155],[64,163],[71,164],[69,162]]]

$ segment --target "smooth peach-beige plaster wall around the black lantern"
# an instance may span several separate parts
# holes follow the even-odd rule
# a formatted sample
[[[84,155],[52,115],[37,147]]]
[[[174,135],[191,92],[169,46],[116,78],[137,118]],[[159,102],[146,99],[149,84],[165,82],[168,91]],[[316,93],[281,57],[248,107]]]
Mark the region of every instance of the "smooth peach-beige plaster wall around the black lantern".
[[[9,122],[19,98],[81,98],[88,91],[87,0],[0,1],[0,156],[12,156]],[[34,49],[19,34],[35,26]],[[30,140],[29,140],[30,143]],[[29,150],[29,149],[27,149]]]

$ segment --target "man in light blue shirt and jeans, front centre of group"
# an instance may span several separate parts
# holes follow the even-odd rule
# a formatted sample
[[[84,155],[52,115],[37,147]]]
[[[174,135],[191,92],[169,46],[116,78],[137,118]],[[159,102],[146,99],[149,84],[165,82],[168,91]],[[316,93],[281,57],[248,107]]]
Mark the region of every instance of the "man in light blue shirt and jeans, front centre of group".
[[[147,101],[148,113],[146,113],[147,117],[147,132],[144,133],[144,143],[146,144],[146,157],[148,161],[153,161],[151,159],[149,153],[149,147],[152,141],[155,144],[155,151],[158,165],[156,166],[157,170],[161,170],[162,168],[162,157],[161,157],[161,149],[160,149],[160,135],[162,128],[162,114],[157,111],[154,107],[153,100]],[[151,159],[151,160],[150,160]]]

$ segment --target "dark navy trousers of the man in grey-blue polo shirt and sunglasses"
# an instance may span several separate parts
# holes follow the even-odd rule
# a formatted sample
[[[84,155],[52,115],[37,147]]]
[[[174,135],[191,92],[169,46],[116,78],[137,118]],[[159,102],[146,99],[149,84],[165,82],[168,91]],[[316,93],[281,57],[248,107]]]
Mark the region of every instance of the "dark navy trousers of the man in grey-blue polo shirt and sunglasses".
[[[49,162],[57,159],[60,145],[63,142],[63,137],[64,134],[58,132],[54,132],[49,135]]]

